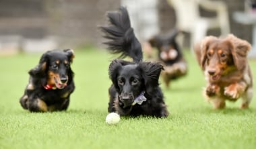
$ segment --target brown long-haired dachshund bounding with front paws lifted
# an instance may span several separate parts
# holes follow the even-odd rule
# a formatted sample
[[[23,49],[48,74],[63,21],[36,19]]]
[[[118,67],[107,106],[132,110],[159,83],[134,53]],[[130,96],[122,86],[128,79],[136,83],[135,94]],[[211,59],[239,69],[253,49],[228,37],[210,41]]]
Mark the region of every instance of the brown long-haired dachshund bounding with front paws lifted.
[[[225,38],[207,36],[194,50],[207,81],[203,93],[207,101],[222,109],[225,100],[242,98],[241,108],[248,108],[253,99],[253,76],[247,61],[251,45],[232,34]]]

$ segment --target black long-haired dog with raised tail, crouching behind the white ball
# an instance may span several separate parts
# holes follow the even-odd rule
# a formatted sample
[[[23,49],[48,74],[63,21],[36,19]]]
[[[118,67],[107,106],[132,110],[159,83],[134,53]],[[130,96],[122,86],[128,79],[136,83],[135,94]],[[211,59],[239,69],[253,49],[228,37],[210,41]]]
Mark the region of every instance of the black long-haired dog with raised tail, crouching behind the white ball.
[[[129,56],[133,62],[115,59],[108,72],[113,85],[109,88],[108,112],[120,115],[148,115],[167,117],[168,110],[158,84],[161,64],[142,62],[141,44],[131,28],[129,14],[125,7],[120,11],[108,12],[109,26],[102,26],[108,50]]]

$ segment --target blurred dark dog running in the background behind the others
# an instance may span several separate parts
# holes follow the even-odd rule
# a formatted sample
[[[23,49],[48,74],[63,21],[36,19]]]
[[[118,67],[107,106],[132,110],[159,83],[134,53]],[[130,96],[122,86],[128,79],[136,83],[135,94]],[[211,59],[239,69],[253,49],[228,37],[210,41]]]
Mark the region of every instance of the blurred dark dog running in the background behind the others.
[[[174,30],[169,34],[160,34],[152,37],[150,45],[158,50],[158,60],[164,65],[162,71],[162,79],[166,87],[170,86],[170,81],[179,79],[187,74],[187,62],[183,57],[183,52],[179,44],[176,42],[178,30]]]

